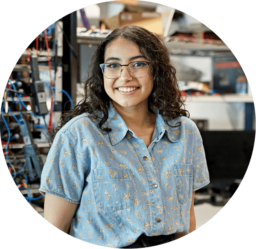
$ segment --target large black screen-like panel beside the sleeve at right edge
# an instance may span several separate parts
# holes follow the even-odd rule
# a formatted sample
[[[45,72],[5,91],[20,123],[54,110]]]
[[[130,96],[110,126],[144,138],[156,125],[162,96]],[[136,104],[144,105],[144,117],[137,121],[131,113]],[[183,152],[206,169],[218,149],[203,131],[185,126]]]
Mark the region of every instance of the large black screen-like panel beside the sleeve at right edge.
[[[210,181],[243,179],[254,147],[255,131],[200,131]]]

